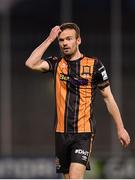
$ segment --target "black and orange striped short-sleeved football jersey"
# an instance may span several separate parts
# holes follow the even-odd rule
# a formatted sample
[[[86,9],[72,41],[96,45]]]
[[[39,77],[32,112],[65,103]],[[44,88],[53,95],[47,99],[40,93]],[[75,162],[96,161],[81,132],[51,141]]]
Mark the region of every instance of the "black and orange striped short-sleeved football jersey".
[[[109,85],[99,59],[81,57],[74,61],[46,59],[54,73],[56,88],[56,132],[94,132],[93,102],[95,90]]]

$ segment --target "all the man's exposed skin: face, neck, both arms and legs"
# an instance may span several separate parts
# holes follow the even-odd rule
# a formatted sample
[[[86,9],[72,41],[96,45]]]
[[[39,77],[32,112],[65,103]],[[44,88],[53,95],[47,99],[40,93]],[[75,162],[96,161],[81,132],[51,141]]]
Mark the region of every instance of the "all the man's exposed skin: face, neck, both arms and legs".
[[[82,56],[79,50],[81,38],[76,36],[74,29],[65,29],[61,31],[59,26],[52,28],[49,36],[42,44],[40,44],[27,59],[25,65],[32,70],[48,71],[49,65],[46,61],[42,60],[42,56],[48,47],[58,38],[61,53],[67,60],[74,61]],[[130,143],[130,136],[121,118],[121,114],[117,103],[113,97],[110,86],[100,90],[103,100],[106,104],[109,114],[115,123],[118,139],[123,147],[127,147]],[[83,179],[86,167],[79,163],[71,163],[69,173],[64,174],[65,179]]]

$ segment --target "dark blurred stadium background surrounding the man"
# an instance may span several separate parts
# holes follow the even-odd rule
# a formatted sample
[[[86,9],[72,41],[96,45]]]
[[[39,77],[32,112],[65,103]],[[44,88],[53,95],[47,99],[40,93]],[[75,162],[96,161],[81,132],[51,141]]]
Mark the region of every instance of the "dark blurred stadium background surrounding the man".
[[[120,146],[97,93],[92,171],[85,178],[135,177],[134,19],[134,0],[0,0],[0,178],[62,178],[55,173],[53,77],[24,64],[52,27],[68,21],[81,29],[81,51],[106,66],[132,139],[127,149]],[[44,57],[59,53],[54,42]]]

